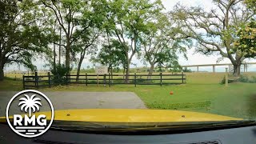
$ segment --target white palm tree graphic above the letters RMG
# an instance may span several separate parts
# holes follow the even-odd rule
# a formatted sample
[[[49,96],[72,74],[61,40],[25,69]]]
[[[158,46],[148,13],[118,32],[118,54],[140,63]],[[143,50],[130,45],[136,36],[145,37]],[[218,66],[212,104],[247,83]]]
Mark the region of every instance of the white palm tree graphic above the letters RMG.
[[[18,106],[21,105],[21,110],[27,112],[27,110],[29,109],[29,114],[31,117],[31,109],[33,110],[33,113],[38,110],[39,111],[39,105],[42,106],[42,103],[39,102],[41,101],[40,98],[34,98],[36,96],[36,94],[32,95],[31,97],[29,97],[28,95],[24,94],[24,96],[26,98],[19,98],[19,100],[21,102],[18,103]]]

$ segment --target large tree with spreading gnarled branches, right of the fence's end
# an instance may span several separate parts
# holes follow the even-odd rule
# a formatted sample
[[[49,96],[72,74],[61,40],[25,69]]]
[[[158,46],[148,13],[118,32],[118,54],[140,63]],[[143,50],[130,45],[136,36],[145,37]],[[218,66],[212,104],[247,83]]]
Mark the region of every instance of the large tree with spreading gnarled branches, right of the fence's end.
[[[182,25],[181,34],[196,42],[198,52],[218,53],[222,58],[229,58],[234,66],[234,75],[240,74],[245,57],[234,46],[234,33],[241,23],[249,22],[254,17],[254,12],[246,9],[241,0],[213,0],[211,10],[178,4],[170,14]]]

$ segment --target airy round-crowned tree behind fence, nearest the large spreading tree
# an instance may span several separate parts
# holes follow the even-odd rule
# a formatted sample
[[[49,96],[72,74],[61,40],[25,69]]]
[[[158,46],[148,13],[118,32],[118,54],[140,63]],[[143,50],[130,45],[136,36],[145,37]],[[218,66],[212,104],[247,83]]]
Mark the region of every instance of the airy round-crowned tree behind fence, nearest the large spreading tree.
[[[177,52],[186,52],[186,39],[178,38],[177,30],[172,27],[166,14],[158,14],[150,26],[149,33],[142,36],[142,47],[146,62],[150,63],[149,76],[153,74],[154,66],[178,67]],[[185,54],[185,53],[184,53]]]

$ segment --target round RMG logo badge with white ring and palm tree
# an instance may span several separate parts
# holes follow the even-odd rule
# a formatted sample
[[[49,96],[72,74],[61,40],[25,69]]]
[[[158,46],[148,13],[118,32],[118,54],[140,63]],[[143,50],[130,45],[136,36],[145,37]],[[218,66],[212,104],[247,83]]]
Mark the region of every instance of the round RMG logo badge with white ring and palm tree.
[[[40,110],[50,111],[51,114],[43,114]],[[16,134],[26,138],[38,137],[53,123],[54,106],[38,90],[23,90],[10,99],[6,107],[6,120]]]

